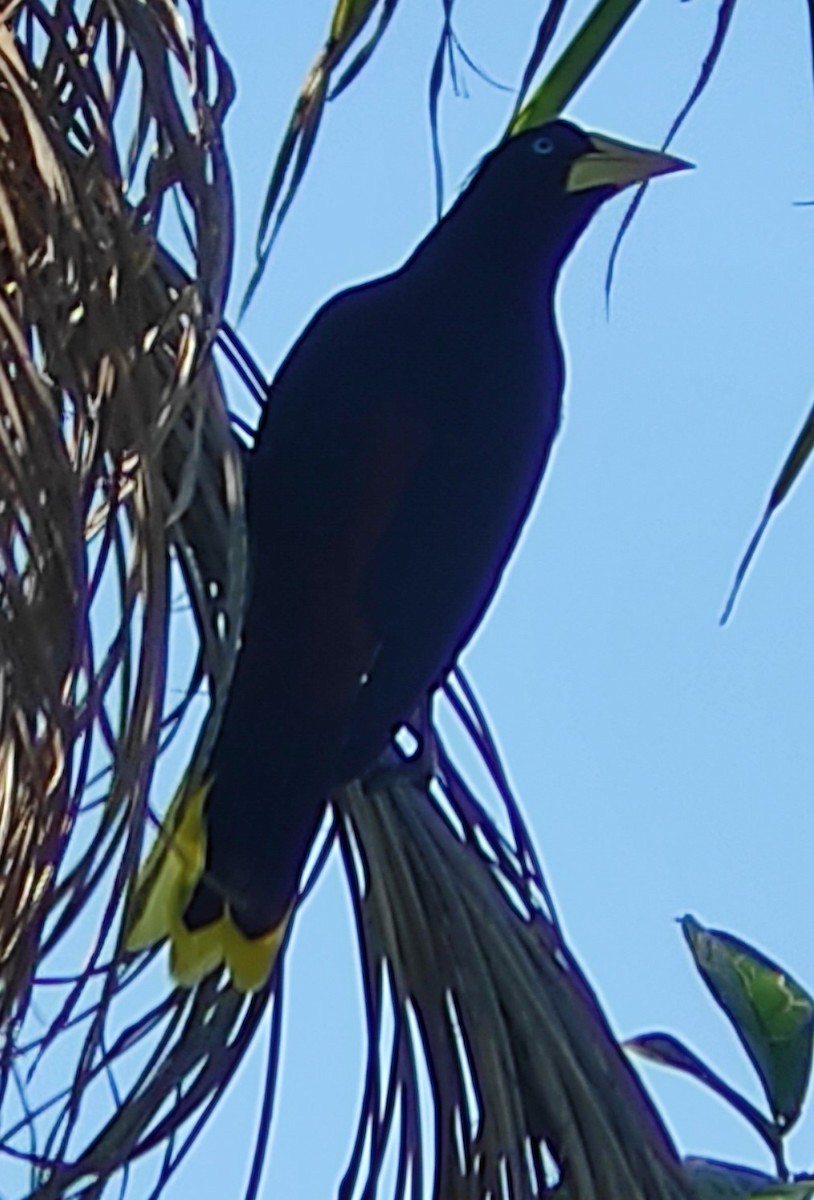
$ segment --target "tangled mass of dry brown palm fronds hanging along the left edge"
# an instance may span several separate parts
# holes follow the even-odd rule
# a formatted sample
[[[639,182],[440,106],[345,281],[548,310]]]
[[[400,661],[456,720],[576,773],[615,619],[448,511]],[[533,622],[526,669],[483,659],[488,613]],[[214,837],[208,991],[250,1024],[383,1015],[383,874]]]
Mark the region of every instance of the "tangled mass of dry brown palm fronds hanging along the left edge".
[[[209,988],[113,1025],[138,977],[116,952],[156,756],[202,689],[216,716],[239,636],[240,451],[211,360],[232,95],[196,0],[4,10],[0,1154],[54,1195],[72,1159],[98,1187],[126,1164],[188,1070],[216,1062],[222,1080],[252,1020]],[[180,216],[186,269],[160,250],[164,212]],[[192,619],[174,701],[179,594]],[[86,1096],[104,1080],[115,1097],[113,1066],[143,1042],[148,1115],[120,1110],[114,1148],[83,1129],[76,1153]],[[67,1045],[65,1086],[52,1058]]]

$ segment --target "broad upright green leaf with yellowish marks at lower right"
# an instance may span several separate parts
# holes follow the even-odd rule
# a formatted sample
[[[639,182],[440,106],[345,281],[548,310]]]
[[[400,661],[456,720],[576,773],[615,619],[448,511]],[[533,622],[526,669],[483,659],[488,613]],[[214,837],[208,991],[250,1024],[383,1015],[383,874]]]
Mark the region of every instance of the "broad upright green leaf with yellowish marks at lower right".
[[[731,934],[681,922],[704,982],[732,1022],[778,1127],[800,1116],[812,1070],[814,1001],[780,966]]]

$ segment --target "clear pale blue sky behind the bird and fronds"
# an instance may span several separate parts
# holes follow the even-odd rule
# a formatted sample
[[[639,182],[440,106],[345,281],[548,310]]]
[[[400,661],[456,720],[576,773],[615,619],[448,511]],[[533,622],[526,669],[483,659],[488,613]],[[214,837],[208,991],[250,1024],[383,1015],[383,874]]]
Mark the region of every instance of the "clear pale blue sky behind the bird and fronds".
[[[717,7],[644,4],[569,115],[658,144]],[[238,79],[233,312],[268,170],[329,8],[209,2]],[[515,84],[540,8],[460,0],[456,29],[473,59]],[[372,64],[330,108],[243,326],[269,372],[323,300],[396,265],[432,222],[426,84],[441,19],[439,0],[401,5]],[[814,988],[814,479],[772,527],[731,625],[717,623],[812,397],[814,209],[792,203],[814,197],[806,47],[802,0],[742,5],[676,143],[698,170],[652,188],[623,247],[610,320],[603,284],[622,200],[569,263],[564,426],[519,557],[465,659],[616,1031],[677,1033],[753,1097],[674,918],[692,911],[735,931]],[[450,187],[511,104],[463,73],[468,98],[443,106]],[[321,1200],[345,1165],[363,1051],[354,971],[334,870],[298,919],[288,962],[269,1196]],[[170,1194],[235,1194],[256,1074],[243,1073]],[[682,1151],[768,1168],[750,1132],[696,1085],[647,1078]],[[808,1120],[792,1139],[797,1170],[812,1166],[813,1132]]]

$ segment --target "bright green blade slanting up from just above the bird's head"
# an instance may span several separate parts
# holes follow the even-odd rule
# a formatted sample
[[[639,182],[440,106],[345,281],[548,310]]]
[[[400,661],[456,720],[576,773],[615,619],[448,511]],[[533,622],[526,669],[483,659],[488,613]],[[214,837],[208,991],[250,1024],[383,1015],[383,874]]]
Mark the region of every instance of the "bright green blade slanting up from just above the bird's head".
[[[598,0],[543,83],[515,114],[509,132],[520,133],[562,113],[640,2]]]

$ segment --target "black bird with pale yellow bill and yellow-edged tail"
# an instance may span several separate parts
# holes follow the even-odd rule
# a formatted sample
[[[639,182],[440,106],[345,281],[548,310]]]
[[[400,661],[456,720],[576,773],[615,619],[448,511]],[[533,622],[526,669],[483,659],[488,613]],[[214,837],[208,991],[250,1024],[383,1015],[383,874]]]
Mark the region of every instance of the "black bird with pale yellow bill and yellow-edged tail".
[[[268,980],[331,793],[443,685],[517,542],[561,420],[563,263],[612,196],[686,166],[562,119],[520,132],[286,356],[246,457],[223,721],[128,936],[169,938],[180,983]]]

